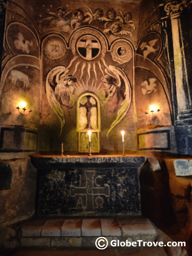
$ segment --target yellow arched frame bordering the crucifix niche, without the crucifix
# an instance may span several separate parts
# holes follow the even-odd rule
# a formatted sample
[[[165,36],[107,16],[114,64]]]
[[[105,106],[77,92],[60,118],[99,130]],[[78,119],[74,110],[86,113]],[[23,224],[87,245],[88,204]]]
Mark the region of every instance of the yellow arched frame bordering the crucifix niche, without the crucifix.
[[[97,103],[97,129],[81,129],[79,127],[79,119],[80,119],[79,106],[80,106],[81,99],[85,96],[92,96]],[[82,133],[88,133],[89,130],[91,130],[92,133],[96,133],[96,137],[97,137],[97,141],[98,141],[97,149],[92,148],[92,152],[95,152],[95,153],[100,152],[100,131],[101,131],[100,102],[99,102],[99,98],[95,94],[93,94],[91,92],[86,92],[79,96],[79,98],[77,100],[77,121],[76,121],[76,123],[77,123],[77,132],[78,132],[78,152],[89,153],[89,147],[87,147],[87,150],[82,150],[82,148],[81,148],[81,135],[82,135]],[[87,138],[88,138],[88,136],[87,136]],[[89,141],[87,141],[87,145],[89,145]]]

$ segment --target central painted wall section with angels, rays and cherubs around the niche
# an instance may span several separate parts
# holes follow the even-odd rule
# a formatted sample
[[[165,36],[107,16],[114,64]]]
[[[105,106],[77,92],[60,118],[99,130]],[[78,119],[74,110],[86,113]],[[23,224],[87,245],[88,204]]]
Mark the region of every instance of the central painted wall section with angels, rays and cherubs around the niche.
[[[83,5],[81,6],[85,8]],[[96,9],[97,8],[95,8],[93,12],[96,12]],[[106,13],[108,9],[109,8],[105,7],[103,13]],[[69,10],[69,8],[67,8],[67,10]],[[88,12],[87,7],[86,10]],[[117,7],[116,10],[118,11]],[[125,11],[123,10],[123,12]],[[135,121],[133,118],[133,105],[131,104],[131,87],[134,81],[133,62],[136,37],[134,38],[132,33],[134,35],[136,34],[136,25],[134,22],[130,22],[130,24],[132,24],[130,26],[130,33],[128,33],[128,30],[127,33],[124,33],[125,28],[123,28],[121,30],[122,33],[119,31],[114,34],[113,32],[109,32],[110,28],[107,26],[109,26],[110,23],[114,23],[115,20],[112,22],[98,18],[93,20],[89,19],[88,22],[86,21],[87,18],[83,18],[81,23],[75,24],[74,18],[72,18],[74,16],[74,10],[67,15],[72,15],[71,18],[67,18],[68,25],[66,23],[64,24],[63,19],[65,19],[65,17],[61,19],[62,22],[58,21],[58,17],[55,16],[49,19],[43,17],[39,18],[40,30],[43,31],[42,34],[44,35],[41,50],[42,66],[44,70],[43,79],[46,83],[46,94],[49,92],[49,96],[45,95],[44,92],[42,93],[42,97],[45,97],[45,101],[43,101],[44,103],[42,105],[44,114],[42,114],[41,125],[47,127],[49,133],[51,130],[51,134],[55,134],[51,146],[53,149],[58,148],[61,138],[65,141],[66,150],[75,151],[78,146],[76,105],[66,106],[63,102],[53,99],[55,96],[55,88],[58,86],[55,81],[53,81],[54,79],[51,82],[50,80],[52,79],[51,77],[54,77],[54,74],[57,76],[56,69],[61,70],[61,67],[63,67],[63,73],[59,79],[69,74],[77,79],[74,85],[74,95],[71,96],[74,98],[74,102],[77,101],[82,93],[87,91],[95,93],[100,99],[101,150],[111,150],[115,147],[118,149],[121,148],[121,129],[125,129],[127,134],[129,134],[127,136],[130,136],[129,139],[127,137],[126,147],[133,149]],[[87,14],[84,16],[86,15]],[[123,14],[121,13],[121,15]],[[108,25],[106,24],[107,22]],[[64,24],[62,29],[58,26],[59,24]],[[69,26],[69,24],[71,26]],[[122,25],[125,26],[125,24]],[[132,26],[134,26],[134,28]],[[53,28],[59,31],[59,34],[58,32],[56,33],[55,30],[53,34]],[[67,28],[69,28],[69,30]],[[106,32],[107,28],[108,32]],[[48,31],[51,31],[52,35],[49,34],[46,36],[46,32]],[[119,40],[119,37],[121,40]],[[61,51],[59,52],[59,57],[53,52],[50,52],[53,41],[58,45],[58,48],[60,45]],[[88,50],[84,50],[86,47],[87,49],[88,47],[94,48],[92,53],[89,53],[93,54],[91,57],[86,55],[88,54]],[[50,67],[52,67],[52,74],[49,73]],[[109,89],[111,92],[109,92]],[[48,102],[46,103],[46,100],[48,100],[49,104]],[[53,107],[55,105],[57,105],[57,107]],[[48,106],[51,107],[50,110],[46,110]],[[56,118],[55,113],[58,118]],[[60,136],[57,138],[59,133]]]

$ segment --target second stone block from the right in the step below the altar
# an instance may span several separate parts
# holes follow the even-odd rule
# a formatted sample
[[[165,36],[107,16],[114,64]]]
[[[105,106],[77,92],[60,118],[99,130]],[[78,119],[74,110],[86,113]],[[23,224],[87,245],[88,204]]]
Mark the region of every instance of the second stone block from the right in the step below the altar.
[[[119,236],[121,235],[121,229],[117,220],[113,219],[101,219],[101,234],[104,236]]]

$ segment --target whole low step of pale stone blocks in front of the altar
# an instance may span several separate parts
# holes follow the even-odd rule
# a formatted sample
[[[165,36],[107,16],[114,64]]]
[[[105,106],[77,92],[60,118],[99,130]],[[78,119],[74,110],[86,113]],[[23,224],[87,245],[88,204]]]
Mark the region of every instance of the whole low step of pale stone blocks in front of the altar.
[[[22,238],[31,238],[26,240],[30,244],[33,239],[46,238],[52,239],[54,244],[73,244],[77,238],[97,238],[103,235],[107,239],[111,238],[130,238],[136,239],[154,239],[156,230],[153,225],[145,218],[136,219],[51,219],[34,220],[21,227]],[[54,239],[53,239],[54,238]],[[58,239],[56,239],[58,238]],[[65,239],[66,238],[66,239]],[[70,240],[69,240],[70,239]],[[37,240],[38,241],[38,240]],[[46,241],[46,240],[45,240]],[[123,241],[123,240],[122,240]],[[61,246],[61,245],[60,245]]]

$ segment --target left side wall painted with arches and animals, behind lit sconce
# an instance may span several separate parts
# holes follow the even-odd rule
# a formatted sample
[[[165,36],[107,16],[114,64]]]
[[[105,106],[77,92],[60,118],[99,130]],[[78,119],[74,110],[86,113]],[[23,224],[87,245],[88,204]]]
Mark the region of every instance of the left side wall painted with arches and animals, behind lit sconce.
[[[25,118],[25,126],[38,128],[40,93],[39,38],[32,18],[22,7],[7,2],[6,27],[1,77],[1,124],[22,125],[23,117],[16,109],[26,102],[33,114]],[[34,96],[36,95],[36,96]]]

